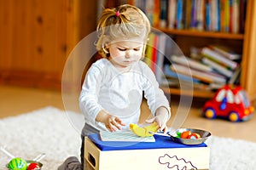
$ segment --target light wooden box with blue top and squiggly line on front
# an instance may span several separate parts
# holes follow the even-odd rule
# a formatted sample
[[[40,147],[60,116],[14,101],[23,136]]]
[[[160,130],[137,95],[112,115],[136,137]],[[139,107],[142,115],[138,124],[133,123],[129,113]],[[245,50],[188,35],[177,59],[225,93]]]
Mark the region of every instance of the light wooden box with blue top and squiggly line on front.
[[[154,138],[155,142],[108,142],[99,134],[90,134],[84,141],[84,169],[88,164],[94,170],[209,168],[207,144],[186,145],[170,137]]]

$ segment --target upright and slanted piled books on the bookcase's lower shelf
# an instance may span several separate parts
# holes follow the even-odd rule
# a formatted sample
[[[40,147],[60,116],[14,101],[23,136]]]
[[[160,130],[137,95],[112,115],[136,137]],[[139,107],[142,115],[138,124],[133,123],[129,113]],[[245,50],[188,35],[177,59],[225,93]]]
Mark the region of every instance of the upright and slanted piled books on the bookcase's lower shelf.
[[[207,45],[205,48],[222,55],[208,48],[209,46]],[[217,59],[208,57],[211,53],[204,53],[205,50],[198,50],[202,54],[201,59],[192,59],[184,55],[167,53],[169,50],[168,37],[165,34],[157,31],[150,33],[145,61],[148,60],[146,63],[154,71],[155,77],[160,84],[169,84],[170,86],[172,84],[172,87],[175,87],[177,86],[177,81],[183,81],[193,82],[197,88],[216,89],[226,83],[235,83],[239,80],[240,75],[236,72],[240,66],[236,61],[229,59],[237,65],[236,68],[230,69],[230,66],[227,66],[226,63],[224,63],[225,65],[220,64],[219,61],[216,61]],[[166,56],[170,56],[168,59],[171,63],[168,65],[166,65],[165,61]],[[224,56],[222,57],[228,59]],[[166,76],[169,82],[166,82],[163,76]],[[175,79],[176,81],[174,81]]]

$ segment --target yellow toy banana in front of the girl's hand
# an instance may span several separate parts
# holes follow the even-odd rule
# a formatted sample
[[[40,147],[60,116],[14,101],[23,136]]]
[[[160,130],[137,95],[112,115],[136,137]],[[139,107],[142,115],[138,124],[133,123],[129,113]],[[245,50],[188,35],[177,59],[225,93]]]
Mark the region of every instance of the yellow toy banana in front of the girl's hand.
[[[147,127],[139,127],[139,126],[137,126],[137,124],[131,123],[130,124],[130,129],[131,129],[131,132],[135,133],[137,136],[149,137],[149,136],[154,135],[152,133],[156,133],[158,131],[159,125],[158,125],[157,122],[153,122]]]

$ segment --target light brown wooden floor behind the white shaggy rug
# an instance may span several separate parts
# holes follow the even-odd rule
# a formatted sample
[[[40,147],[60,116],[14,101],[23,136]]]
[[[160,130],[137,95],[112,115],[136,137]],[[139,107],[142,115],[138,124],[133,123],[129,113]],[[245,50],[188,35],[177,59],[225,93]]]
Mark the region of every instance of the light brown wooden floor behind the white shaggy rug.
[[[207,120],[201,116],[201,106],[203,103],[204,100],[201,99],[193,100],[192,107],[189,107],[187,110],[189,111],[189,116],[183,123],[183,127],[201,128],[210,131],[215,136],[245,139],[256,143],[256,135],[253,130],[256,129],[255,116],[247,122],[234,123],[222,119]],[[0,118],[16,116],[48,105],[64,110],[61,92],[0,85]],[[169,126],[172,125],[177,108],[180,107],[178,99],[172,99],[171,106],[172,119],[168,122]],[[146,112],[144,117],[147,117],[148,108],[145,102],[143,102],[142,109],[143,112]],[[183,111],[178,111],[178,114],[183,114]]]

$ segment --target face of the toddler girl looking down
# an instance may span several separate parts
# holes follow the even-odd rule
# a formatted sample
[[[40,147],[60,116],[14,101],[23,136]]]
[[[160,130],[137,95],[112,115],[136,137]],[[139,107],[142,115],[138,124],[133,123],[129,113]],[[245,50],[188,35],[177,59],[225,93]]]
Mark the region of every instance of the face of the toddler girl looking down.
[[[143,56],[143,41],[127,39],[108,44],[110,61],[117,68],[127,68]]]

